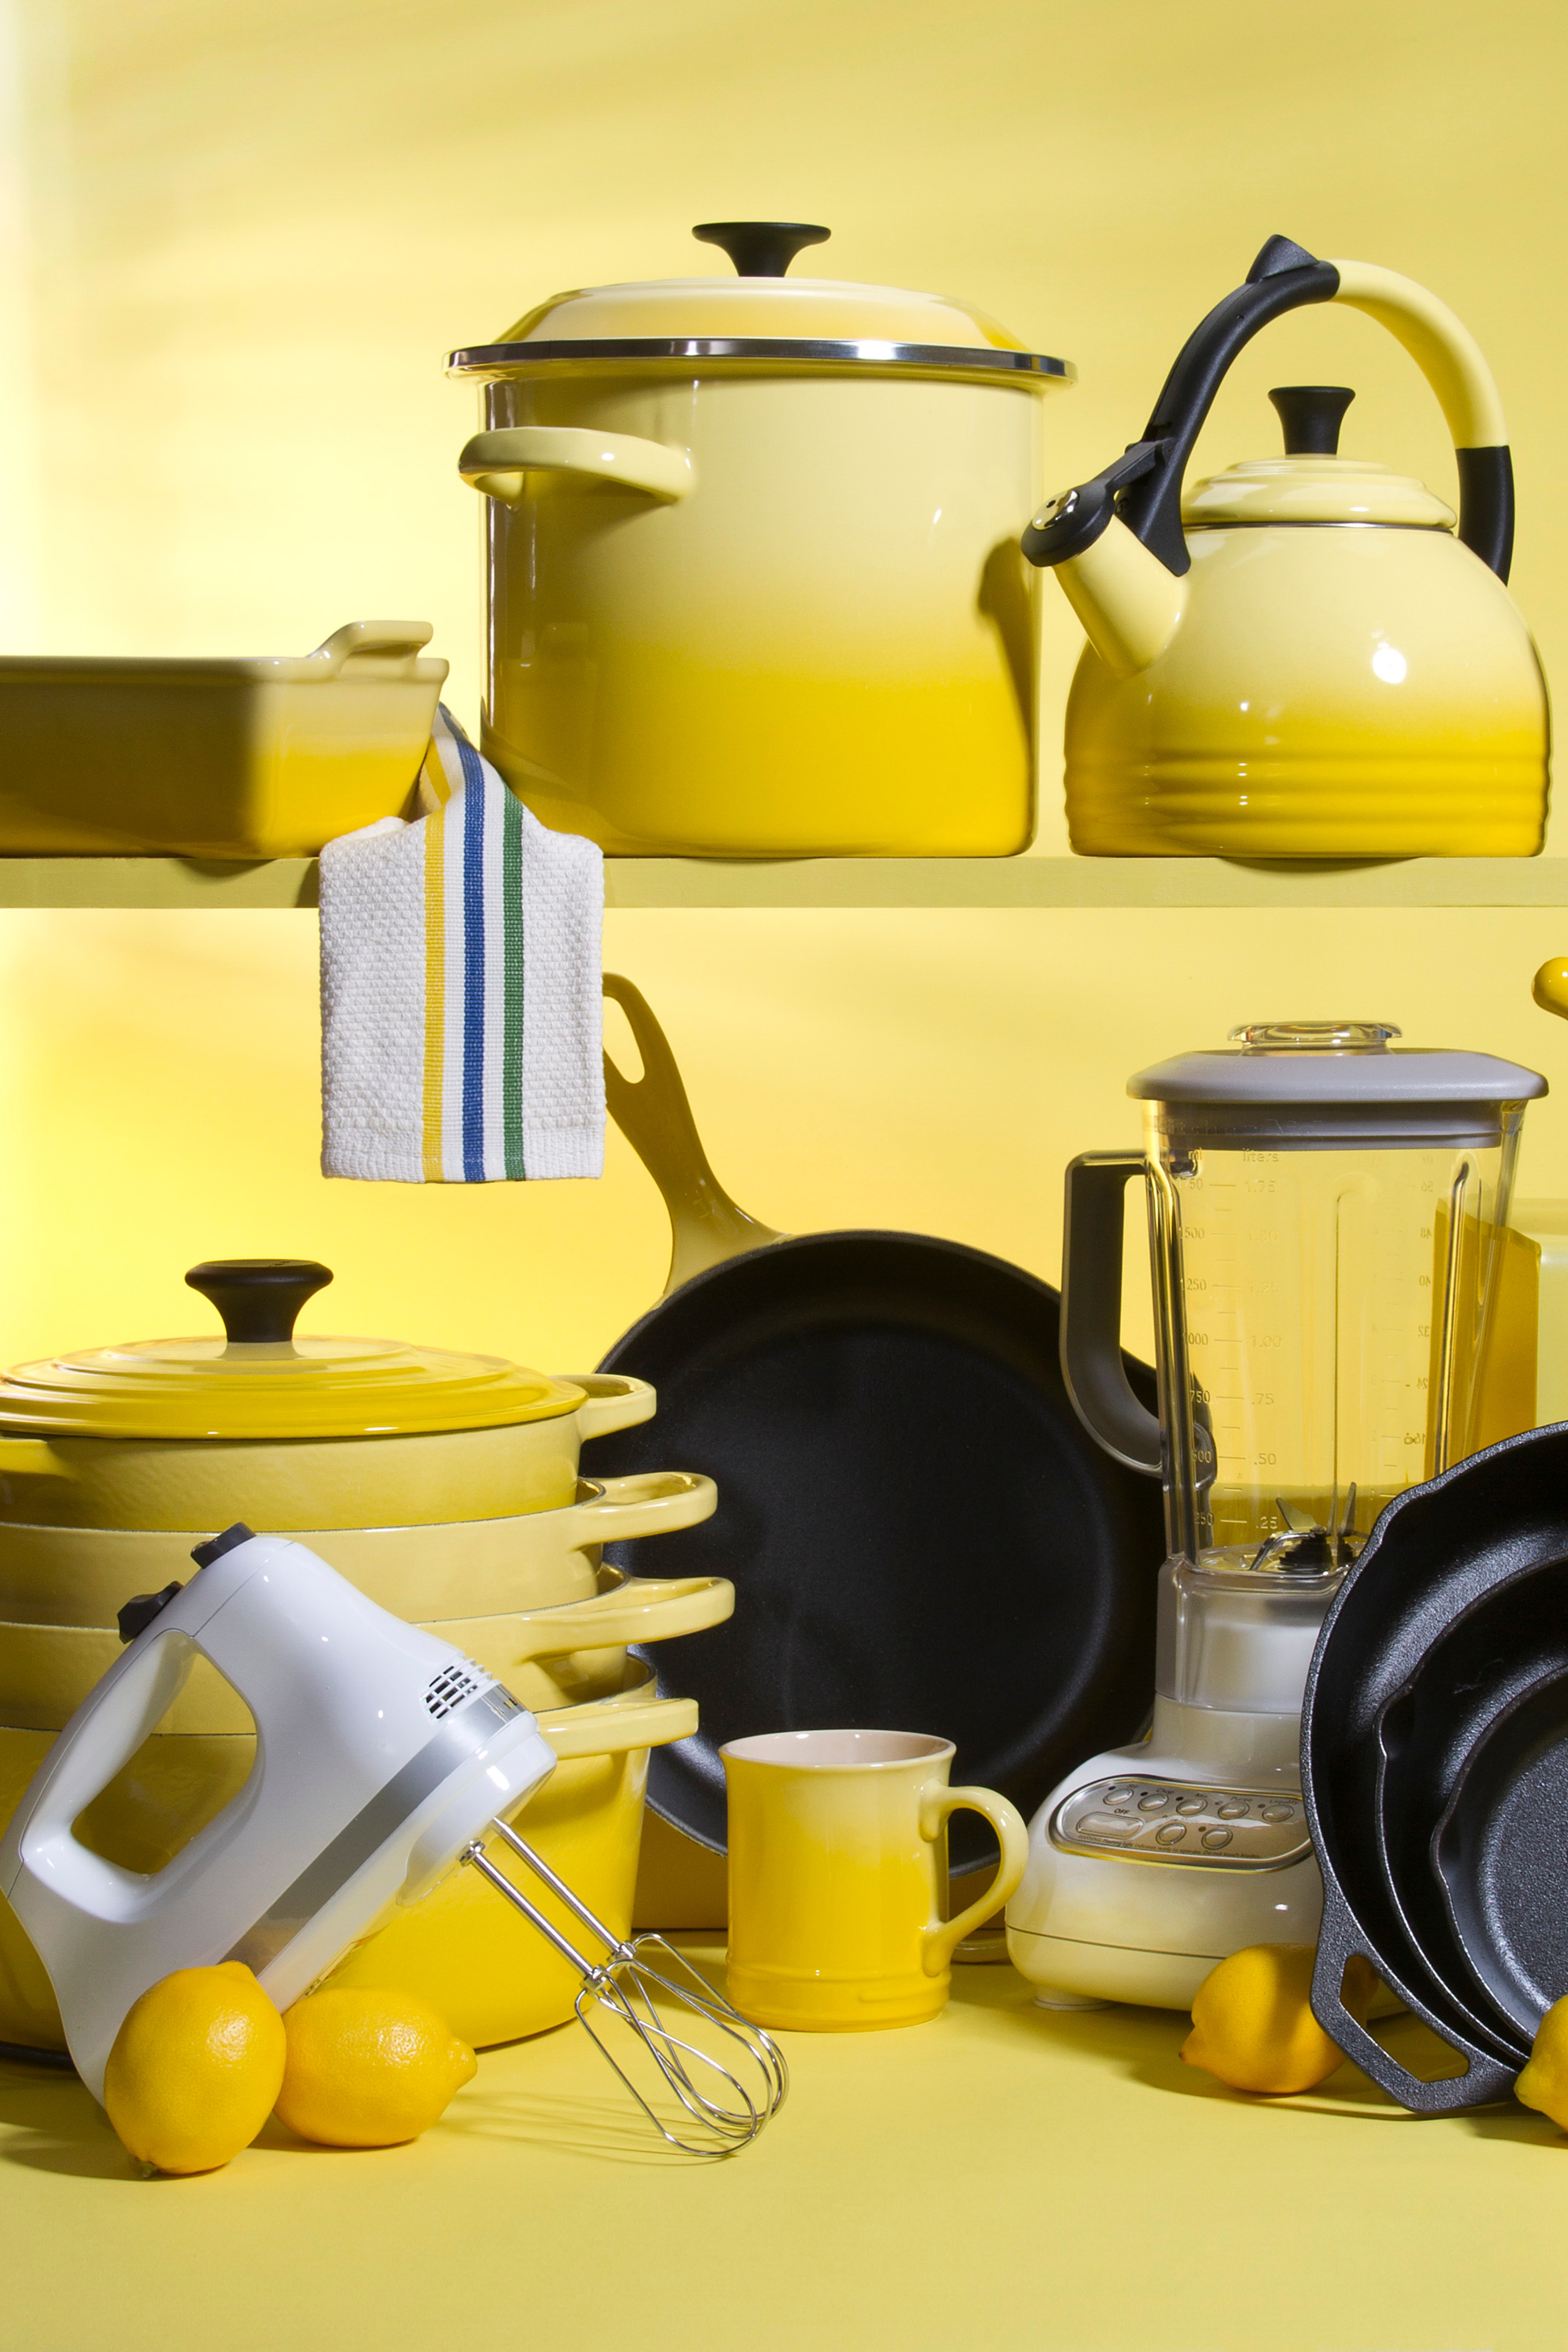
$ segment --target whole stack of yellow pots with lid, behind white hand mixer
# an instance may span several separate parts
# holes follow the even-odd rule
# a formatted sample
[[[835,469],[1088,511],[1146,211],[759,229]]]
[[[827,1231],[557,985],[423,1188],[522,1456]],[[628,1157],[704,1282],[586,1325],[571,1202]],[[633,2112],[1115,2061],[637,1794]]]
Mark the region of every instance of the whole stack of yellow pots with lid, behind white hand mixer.
[[[722,1578],[651,1583],[599,1562],[609,1541],[715,1508],[703,1477],[578,1477],[581,1439],[646,1421],[654,1390],[393,1341],[296,1338],[294,1317],[331,1279],[322,1265],[223,1261],[188,1279],[226,1336],[87,1350],[0,1381],[0,1823],[120,1653],[125,1602],[186,1581],[190,1545],[244,1519],[299,1534],[538,1712],[562,1762],[529,1837],[625,1931],[649,1748],[696,1729],[696,1708],[658,1698],[628,1644],[715,1625],[733,1604]],[[244,1703],[197,1661],[78,1835],[125,1867],[162,1870],[254,1755]],[[421,1992],[473,2044],[559,2023],[578,1990],[473,1872],[350,1952],[336,1980]],[[63,2046],[47,1976],[5,1903],[0,2039]]]

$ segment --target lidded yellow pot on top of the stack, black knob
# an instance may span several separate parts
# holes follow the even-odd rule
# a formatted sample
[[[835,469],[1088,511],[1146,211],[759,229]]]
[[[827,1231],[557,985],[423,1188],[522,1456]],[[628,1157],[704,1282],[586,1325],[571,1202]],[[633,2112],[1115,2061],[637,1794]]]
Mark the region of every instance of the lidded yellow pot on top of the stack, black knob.
[[[226,1336],[136,1341],[0,1381],[5,1529],[409,1529],[571,1505],[578,1444],[646,1421],[646,1381],[550,1378],[491,1355],[294,1336],[331,1282],[221,1258],[186,1282]]]

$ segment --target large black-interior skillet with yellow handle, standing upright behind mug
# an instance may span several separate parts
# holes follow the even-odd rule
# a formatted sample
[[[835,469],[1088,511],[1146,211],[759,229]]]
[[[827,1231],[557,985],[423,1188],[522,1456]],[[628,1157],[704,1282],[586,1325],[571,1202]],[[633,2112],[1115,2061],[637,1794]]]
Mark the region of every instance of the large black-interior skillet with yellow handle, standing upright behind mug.
[[[959,1242],[759,1225],[715,1181],[642,995],[604,990],[644,1068],[632,1084],[607,1056],[609,1108],[675,1254],[665,1298],[602,1364],[654,1381],[658,1418],[595,1439],[595,1475],[715,1477],[715,1519],[661,1538],[656,1571],[736,1583],[726,1625],[649,1651],[658,1689],[703,1715],[654,1750],[649,1804],[724,1851],[724,1740],[872,1724],[950,1738],[954,1783],[1030,1813],[1147,1717],[1159,1486],[1079,1425],[1048,1284]],[[1128,1371],[1152,1404],[1154,1376]],[[990,1858],[959,1813],[952,1870]]]

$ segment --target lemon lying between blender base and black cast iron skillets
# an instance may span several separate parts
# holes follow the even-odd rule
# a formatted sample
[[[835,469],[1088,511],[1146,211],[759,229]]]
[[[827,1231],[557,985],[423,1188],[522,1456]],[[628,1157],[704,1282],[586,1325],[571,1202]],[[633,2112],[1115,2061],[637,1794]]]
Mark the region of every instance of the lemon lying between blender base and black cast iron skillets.
[[[1345,2053],[1312,2016],[1309,1943],[1253,1943],[1211,1969],[1192,2004],[1182,2042],[1187,2065],[1201,2065],[1234,2091],[1314,2091]],[[1345,2006],[1366,2025],[1378,1978],[1352,1959]]]

